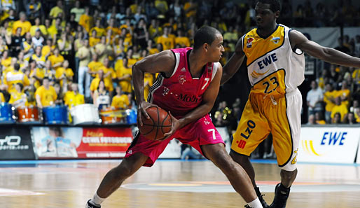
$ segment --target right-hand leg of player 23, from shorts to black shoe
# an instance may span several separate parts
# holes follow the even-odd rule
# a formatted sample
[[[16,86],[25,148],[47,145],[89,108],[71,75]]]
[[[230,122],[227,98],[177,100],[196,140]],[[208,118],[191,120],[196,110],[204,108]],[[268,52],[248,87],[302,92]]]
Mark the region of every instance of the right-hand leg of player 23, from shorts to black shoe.
[[[279,98],[277,111],[268,111],[271,123],[273,146],[277,163],[282,168],[281,183],[275,188],[274,201],[270,207],[284,208],[289,197],[290,187],[296,179],[298,170],[296,160],[300,140],[300,111],[303,103],[299,90],[294,90]]]

